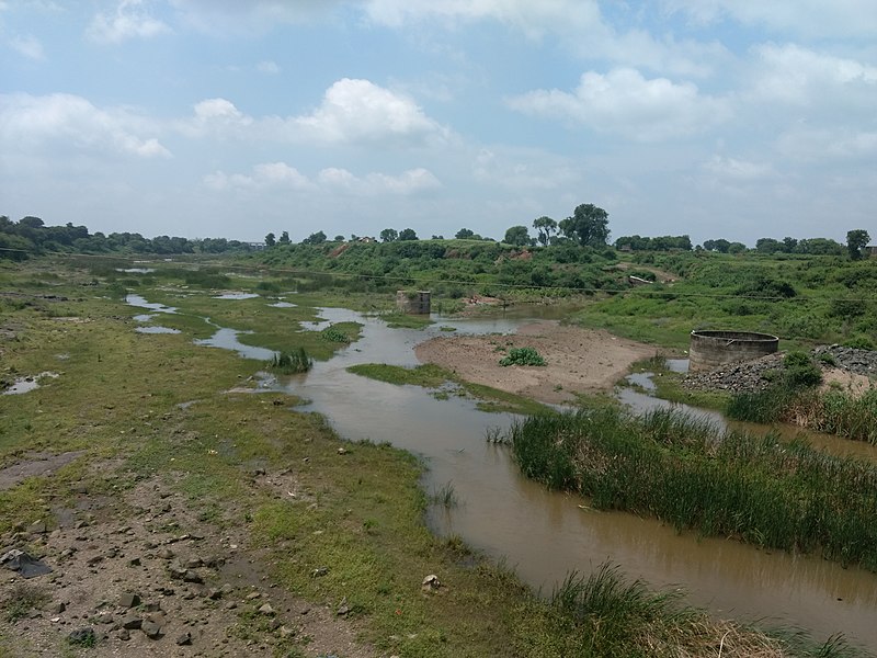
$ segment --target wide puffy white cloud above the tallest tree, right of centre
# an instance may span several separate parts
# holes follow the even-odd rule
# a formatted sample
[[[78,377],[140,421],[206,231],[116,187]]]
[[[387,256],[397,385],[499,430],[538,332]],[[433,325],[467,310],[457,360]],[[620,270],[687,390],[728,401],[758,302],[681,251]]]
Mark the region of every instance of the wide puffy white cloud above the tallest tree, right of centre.
[[[702,95],[691,82],[647,80],[629,68],[589,71],[572,92],[532,91],[508,101],[520,112],[584,124],[638,140],[701,133],[730,117],[727,101]]]

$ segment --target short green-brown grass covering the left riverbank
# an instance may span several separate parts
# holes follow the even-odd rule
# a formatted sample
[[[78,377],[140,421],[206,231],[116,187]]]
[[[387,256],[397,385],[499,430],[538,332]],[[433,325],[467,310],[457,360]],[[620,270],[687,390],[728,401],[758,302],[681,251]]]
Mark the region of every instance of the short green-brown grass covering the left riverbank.
[[[53,268],[45,261],[0,266],[0,283],[4,290],[36,290],[20,281]],[[320,416],[291,411],[292,397],[289,405],[274,405],[276,395],[224,393],[253,374],[252,361],[198,348],[191,330],[137,334],[127,319],[135,311],[105,297],[110,282],[83,287],[93,274],[75,269],[60,274],[60,282],[41,281],[67,302],[36,299],[32,306],[4,308],[4,326],[20,330],[16,340],[0,342],[3,367],[22,374],[56,370],[60,376],[15,399],[0,397],[0,464],[16,463],[29,451],[81,450],[83,455],[52,476],[0,492],[0,532],[15,522],[50,519],[53,507],[72,500],[77,484],[118,497],[141,478],[157,478],[207,510],[218,527],[247,535],[264,552],[262,565],[280,588],[320,605],[348,597],[362,639],[381,655],[705,655],[701,649],[718,647],[729,628],[729,637],[768,642],[724,622],[697,633],[691,624],[680,625],[671,633],[668,619],[667,644],[651,651],[657,617],[611,614],[608,604],[582,616],[537,597],[501,564],[478,555],[463,559],[466,547],[458,537],[437,538],[425,525],[423,465],[414,456],[386,443],[343,443]],[[237,281],[231,285],[247,290]],[[178,293],[150,288],[141,294],[168,303]],[[173,302],[193,315],[205,304],[221,313],[215,321],[237,329],[252,328],[242,309],[259,309],[247,306],[253,299],[206,302],[194,295]],[[316,317],[314,307],[299,313]],[[281,336],[284,322],[289,325],[282,314],[265,311],[261,319],[265,336]],[[311,333],[330,354],[333,345]],[[258,336],[249,338],[258,342]],[[179,406],[192,400],[197,401]],[[342,445],[348,454],[340,457]],[[278,498],[255,486],[254,462],[269,472],[292,466],[298,496]],[[327,575],[312,578],[321,566],[329,568]],[[426,597],[421,581],[433,572],[444,587]],[[586,592],[581,597],[588,600]],[[0,647],[14,651],[14,629],[0,625]],[[817,655],[782,646],[784,653],[775,655]],[[734,655],[727,647],[724,656]],[[57,648],[59,655],[68,650]]]

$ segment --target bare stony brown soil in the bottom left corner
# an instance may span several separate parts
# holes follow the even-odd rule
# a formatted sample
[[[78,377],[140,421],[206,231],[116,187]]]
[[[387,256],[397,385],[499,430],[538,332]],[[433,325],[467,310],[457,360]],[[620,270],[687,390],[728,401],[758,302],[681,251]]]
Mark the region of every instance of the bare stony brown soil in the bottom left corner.
[[[18,468],[53,463],[39,457]],[[259,473],[251,485],[283,497],[296,489],[293,479]],[[191,500],[157,478],[110,494],[81,490],[53,518],[0,537],[0,555],[24,549],[53,569],[30,579],[1,569],[0,631],[15,639],[0,645],[0,655],[78,655],[68,640],[78,631],[94,634],[83,655],[95,658],[378,655],[357,642],[340,602],[316,605],[274,583],[270,557],[248,545],[247,530],[227,527],[203,521]],[[21,608],[27,599],[37,602]]]

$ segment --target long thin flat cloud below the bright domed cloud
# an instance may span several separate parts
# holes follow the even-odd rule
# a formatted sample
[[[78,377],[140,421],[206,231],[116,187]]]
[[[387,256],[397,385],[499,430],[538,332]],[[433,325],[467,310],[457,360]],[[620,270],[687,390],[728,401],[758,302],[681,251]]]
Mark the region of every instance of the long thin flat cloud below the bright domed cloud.
[[[407,196],[441,186],[438,179],[423,168],[409,169],[399,175],[373,172],[360,178],[346,169],[330,167],[319,171],[316,181],[311,181],[285,162],[257,164],[250,174],[217,171],[204,177],[204,183],[214,190],[319,190],[356,196]]]

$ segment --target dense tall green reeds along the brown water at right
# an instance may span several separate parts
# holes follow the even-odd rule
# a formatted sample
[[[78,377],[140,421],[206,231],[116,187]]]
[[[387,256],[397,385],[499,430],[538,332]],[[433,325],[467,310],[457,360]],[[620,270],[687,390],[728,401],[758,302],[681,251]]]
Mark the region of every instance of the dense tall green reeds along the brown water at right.
[[[805,441],[719,436],[673,410],[540,415],[509,430],[527,477],[595,508],[877,570],[877,467]]]

